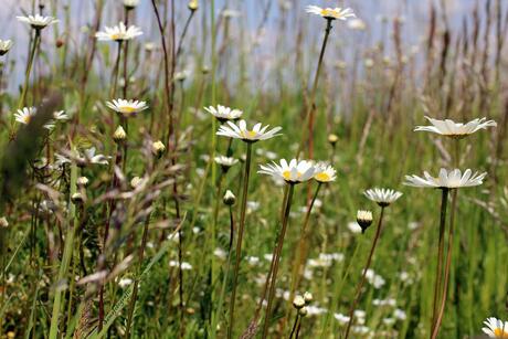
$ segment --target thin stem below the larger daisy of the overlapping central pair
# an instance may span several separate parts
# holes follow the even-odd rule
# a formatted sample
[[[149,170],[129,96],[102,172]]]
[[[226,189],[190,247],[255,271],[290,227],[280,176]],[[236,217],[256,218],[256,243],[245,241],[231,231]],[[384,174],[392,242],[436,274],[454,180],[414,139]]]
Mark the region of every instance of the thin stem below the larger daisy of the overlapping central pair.
[[[292,209],[292,200],[293,200],[293,192],[295,190],[294,184],[289,184],[289,191],[287,193],[287,202],[286,202],[286,208],[284,211],[284,219],[283,219],[283,225],[281,230],[281,234],[277,240],[277,247],[275,251],[275,256],[274,256],[274,268],[272,272],[272,279],[269,284],[269,293],[268,293],[268,301],[266,305],[266,314],[265,314],[265,321],[263,326],[263,338],[267,338],[268,336],[268,328],[269,328],[269,318],[272,316],[272,307],[273,307],[273,301],[275,297],[275,285],[277,283],[277,273],[278,273],[278,264],[281,262],[281,253],[283,250],[284,245],[284,237],[286,236],[286,230],[287,230],[287,224],[289,220],[289,212]]]

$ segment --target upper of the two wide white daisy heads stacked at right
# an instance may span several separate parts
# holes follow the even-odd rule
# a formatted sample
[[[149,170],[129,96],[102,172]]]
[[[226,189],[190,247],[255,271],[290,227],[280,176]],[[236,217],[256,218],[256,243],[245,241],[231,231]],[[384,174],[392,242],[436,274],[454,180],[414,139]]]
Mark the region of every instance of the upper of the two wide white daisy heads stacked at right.
[[[425,117],[432,126],[416,126],[415,131],[431,131],[445,137],[451,138],[465,138],[468,135],[474,134],[480,129],[487,129],[487,127],[496,127],[497,124],[494,120],[487,120],[486,118],[474,119],[467,124],[455,123],[451,119],[438,120],[431,117]]]

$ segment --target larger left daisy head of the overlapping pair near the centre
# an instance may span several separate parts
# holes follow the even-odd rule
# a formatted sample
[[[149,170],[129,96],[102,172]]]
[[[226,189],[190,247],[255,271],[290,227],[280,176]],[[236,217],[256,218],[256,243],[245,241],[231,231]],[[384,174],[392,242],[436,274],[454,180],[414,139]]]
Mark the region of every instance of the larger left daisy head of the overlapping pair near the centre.
[[[314,177],[316,168],[311,161],[293,159],[287,163],[285,159],[281,159],[281,165],[261,165],[260,174],[268,174],[275,179],[282,179],[287,183],[300,183]]]

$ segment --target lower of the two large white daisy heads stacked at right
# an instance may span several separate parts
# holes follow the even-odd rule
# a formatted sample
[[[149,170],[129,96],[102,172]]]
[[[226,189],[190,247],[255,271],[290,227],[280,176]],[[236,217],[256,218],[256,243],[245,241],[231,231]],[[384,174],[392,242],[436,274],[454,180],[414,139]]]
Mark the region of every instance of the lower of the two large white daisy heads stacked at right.
[[[432,177],[428,172],[423,172],[424,178],[417,176],[405,176],[404,184],[417,188],[436,188],[436,189],[458,189],[464,187],[475,187],[483,183],[486,172],[478,173],[470,169],[461,172],[459,169],[447,171],[442,168],[437,178]]]

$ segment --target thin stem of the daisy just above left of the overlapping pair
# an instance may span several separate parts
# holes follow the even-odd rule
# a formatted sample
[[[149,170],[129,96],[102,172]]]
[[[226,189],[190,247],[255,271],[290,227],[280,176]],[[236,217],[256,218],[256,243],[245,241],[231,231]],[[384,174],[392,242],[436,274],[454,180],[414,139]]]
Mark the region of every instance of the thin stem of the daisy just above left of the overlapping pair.
[[[243,177],[243,191],[242,191],[242,202],[241,202],[241,212],[240,212],[240,227],[239,227],[239,239],[236,240],[236,253],[235,253],[235,263],[233,271],[233,290],[231,293],[230,300],[230,325],[227,327],[227,338],[233,337],[234,328],[234,304],[236,297],[236,288],[239,284],[239,271],[240,271],[240,261],[242,258],[242,241],[243,232],[245,230],[245,214],[247,206],[247,192],[248,192],[248,179],[251,176],[251,160],[252,160],[252,144],[247,142],[247,155],[245,159],[245,173]]]

